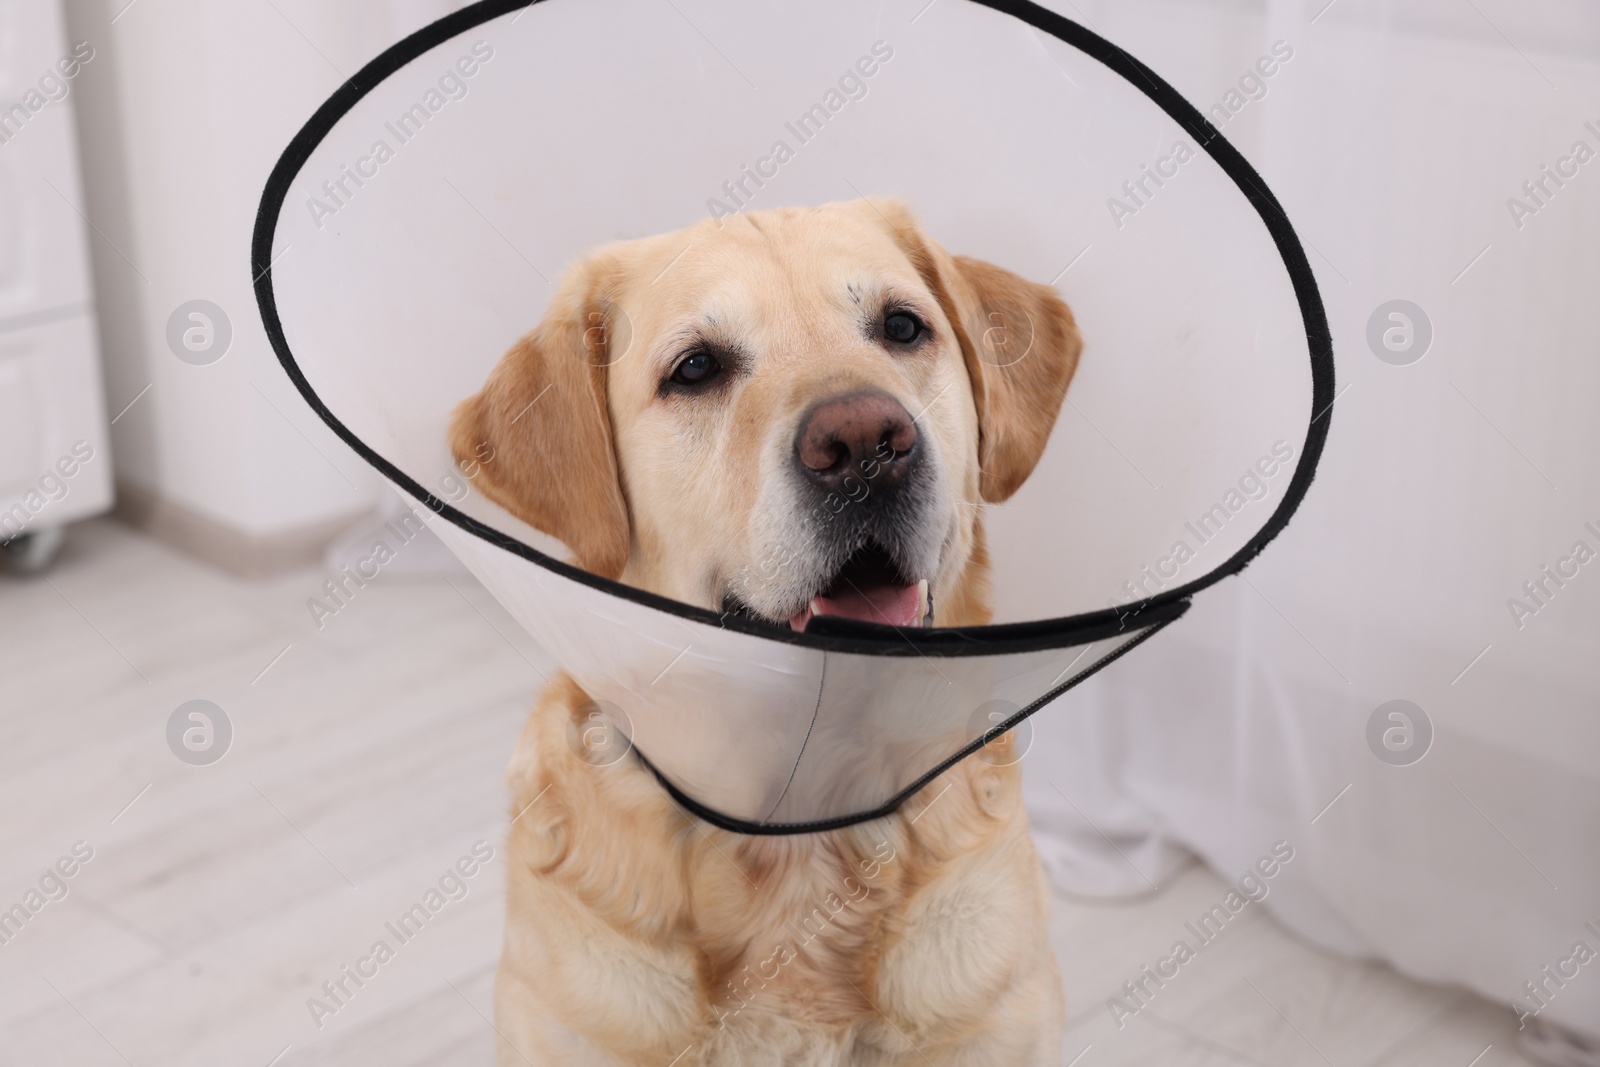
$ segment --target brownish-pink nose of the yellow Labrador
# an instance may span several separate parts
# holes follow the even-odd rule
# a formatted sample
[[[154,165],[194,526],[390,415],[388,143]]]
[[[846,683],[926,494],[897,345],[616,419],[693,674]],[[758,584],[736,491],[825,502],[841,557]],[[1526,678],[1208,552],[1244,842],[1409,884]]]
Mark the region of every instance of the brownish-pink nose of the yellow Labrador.
[[[800,419],[800,472],[830,493],[898,488],[917,464],[917,424],[883,392],[853,392],[814,405]]]

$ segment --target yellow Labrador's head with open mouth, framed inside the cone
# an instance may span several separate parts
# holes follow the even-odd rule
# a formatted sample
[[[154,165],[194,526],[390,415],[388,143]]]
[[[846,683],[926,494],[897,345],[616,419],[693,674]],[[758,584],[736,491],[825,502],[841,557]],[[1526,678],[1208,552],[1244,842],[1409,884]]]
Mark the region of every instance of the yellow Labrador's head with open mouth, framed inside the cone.
[[[597,574],[795,629],[976,624],[979,504],[1038,462],[1078,349],[1054,290],[902,205],[762,211],[579,262],[451,445]]]

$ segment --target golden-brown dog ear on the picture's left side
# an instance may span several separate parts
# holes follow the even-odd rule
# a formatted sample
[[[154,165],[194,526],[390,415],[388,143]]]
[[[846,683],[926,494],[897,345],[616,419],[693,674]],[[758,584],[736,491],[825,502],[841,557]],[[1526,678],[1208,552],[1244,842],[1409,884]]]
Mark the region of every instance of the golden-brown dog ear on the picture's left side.
[[[578,566],[618,577],[629,518],[606,403],[618,333],[606,274],[592,258],[562,282],[544,322],[456,408],[450,446],[486,498],[565,542]]]

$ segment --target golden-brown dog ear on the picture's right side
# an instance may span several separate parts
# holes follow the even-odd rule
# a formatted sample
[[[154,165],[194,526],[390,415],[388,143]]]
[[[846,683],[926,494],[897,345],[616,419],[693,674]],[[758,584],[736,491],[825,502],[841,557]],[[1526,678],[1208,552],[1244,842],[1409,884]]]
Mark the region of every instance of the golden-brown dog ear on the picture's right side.
[[[899,203],[878,205],[955,330],[978,405],[979,493],[998,504],[1034,472],[1056,426],[1083,341],[1048,285],[950,256]]]

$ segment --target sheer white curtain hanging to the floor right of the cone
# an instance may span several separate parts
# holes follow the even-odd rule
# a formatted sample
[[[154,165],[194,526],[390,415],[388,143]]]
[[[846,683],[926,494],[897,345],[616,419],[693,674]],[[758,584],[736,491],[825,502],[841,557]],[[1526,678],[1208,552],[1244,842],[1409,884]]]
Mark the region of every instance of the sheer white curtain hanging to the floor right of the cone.
[[[1533,1009],[1600,950],[1600,10],[1051,6],[1202,109],[1293,46],[1224,133],[1307,245],[1341,390],[1288,531],[1037,717],[1051,875],[1141,893],[1286,840],[1291,929]],[[1405,366],[1368,342],[1395,299],[1432,326]],[[1405,766],[1368,742],[1392,699],[1434,734]],[[1600,1033],[1597,968],[1541,1017]]]

